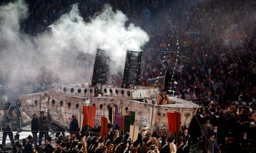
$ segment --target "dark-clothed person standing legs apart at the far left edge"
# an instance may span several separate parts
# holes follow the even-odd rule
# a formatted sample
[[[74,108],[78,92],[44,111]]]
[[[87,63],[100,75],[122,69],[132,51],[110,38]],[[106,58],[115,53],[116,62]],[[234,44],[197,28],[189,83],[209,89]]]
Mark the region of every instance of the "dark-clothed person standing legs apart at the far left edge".
[[[3,141],[2,141],[3,146],[5,146],[5,141],[6,141],[7,135],[9,136],[9,138],[12,142],[12,145],[14,144],[13,131],[12,131],[12,128],[10,128],[11,121],[12,121],[12,117],[10,117],[10,115],[8,115],[8,110],[5,109],[5,114],[1,117],[1,125],[2,125],[2,130],[3,130]]]

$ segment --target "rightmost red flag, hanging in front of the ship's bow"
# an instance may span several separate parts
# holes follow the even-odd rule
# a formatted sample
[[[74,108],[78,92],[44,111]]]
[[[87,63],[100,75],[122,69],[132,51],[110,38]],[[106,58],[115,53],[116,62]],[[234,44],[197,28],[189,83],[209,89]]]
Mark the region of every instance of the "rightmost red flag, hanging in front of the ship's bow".
[[[179,133],[179,127],[181,125],[181,113],[179,112],[167,112],[167,119],[168,119],[168,132],[175,132]]]

